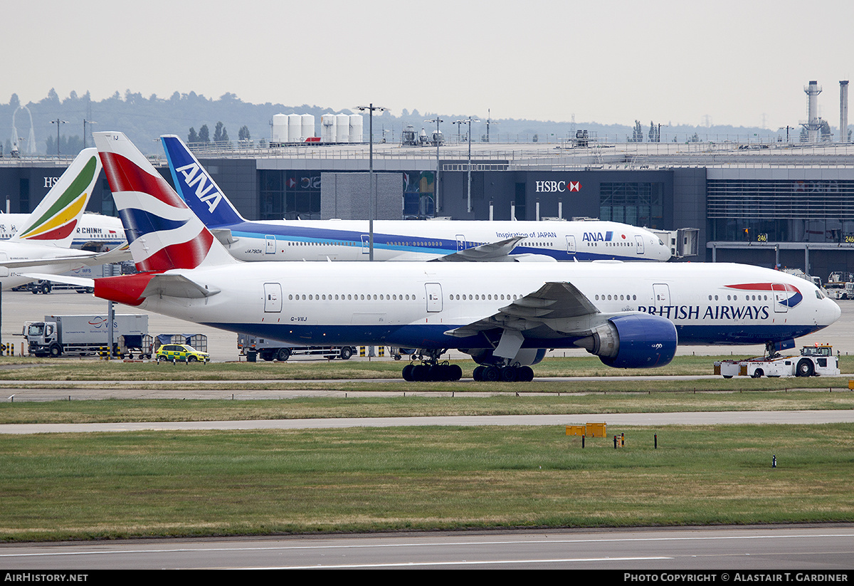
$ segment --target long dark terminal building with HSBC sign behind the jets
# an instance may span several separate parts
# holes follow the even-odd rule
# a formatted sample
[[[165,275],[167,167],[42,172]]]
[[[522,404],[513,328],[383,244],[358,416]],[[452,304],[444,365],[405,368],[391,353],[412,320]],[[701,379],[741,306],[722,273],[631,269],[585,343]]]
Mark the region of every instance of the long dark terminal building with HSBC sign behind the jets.
[[[250,220],[600,218],[696,229],[683,261],[854,272],[847,144],[312,144],[196,149]],[[164,157],[155,167],[172,182]],[[0,159],[10,212],[32,211],[70,159]],[[371,175],[372,169],[372,175]],[[106,179],[89,209],[115,215]],[[2,215],[0,215],[2,220]]]

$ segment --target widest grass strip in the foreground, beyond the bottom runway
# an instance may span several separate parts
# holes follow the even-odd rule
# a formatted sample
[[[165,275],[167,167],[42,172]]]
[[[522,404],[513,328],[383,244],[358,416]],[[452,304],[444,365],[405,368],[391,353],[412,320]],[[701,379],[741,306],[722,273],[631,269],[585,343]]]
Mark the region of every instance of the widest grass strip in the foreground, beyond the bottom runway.
[[[0,539],[854,521],[854,425],[608,433],[626,447],[553,426],[2,436]]]

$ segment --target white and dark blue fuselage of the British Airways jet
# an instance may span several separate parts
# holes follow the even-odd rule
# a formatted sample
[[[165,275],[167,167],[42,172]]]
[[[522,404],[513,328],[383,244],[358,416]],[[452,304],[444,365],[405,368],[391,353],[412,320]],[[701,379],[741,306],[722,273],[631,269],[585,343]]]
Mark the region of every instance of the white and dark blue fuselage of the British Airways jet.
[[[483,338],[446,332],[549,282],[570,282],[600,314],[526,331],[524,347],[571,347],[597,319],[625,312],[670,319],[687,344],[788,340],[839,318],[839,306],[804,279],[733,264],[239,263],[166,274],[219,293],[151,296],[140,307],[295,345],[480,348]]]

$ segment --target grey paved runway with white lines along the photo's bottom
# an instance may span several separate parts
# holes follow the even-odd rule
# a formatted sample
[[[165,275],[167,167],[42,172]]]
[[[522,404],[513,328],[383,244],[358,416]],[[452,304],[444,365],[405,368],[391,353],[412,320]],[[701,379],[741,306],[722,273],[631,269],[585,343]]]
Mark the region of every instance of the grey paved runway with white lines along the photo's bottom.
[[[652,571],[656,573],[656,582],[679,582],[678,576],[663,576],[661,572],[703,570],[751,573],[698,581],[752,582],[759,581],[756,575],[761,572],[780,577],[776,580],[766,577],[763,582],[825,582],[830,581],[828,577],[841,581],[840,576],[850,582],[852,560],[854,527],[850,524],[153,539],[0,546],[0,567],[16,571],[564,568]],[[785,572],[789,573],[788,579]]]

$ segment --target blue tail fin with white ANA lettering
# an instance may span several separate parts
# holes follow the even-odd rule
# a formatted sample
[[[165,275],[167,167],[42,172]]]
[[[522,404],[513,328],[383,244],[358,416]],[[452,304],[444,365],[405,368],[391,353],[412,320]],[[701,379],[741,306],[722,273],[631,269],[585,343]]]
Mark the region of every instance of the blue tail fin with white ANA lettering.
[[[180,138],[168,134],[161,136],[161,142],[175,190],[205,226],[219,228],[246,221]]]

